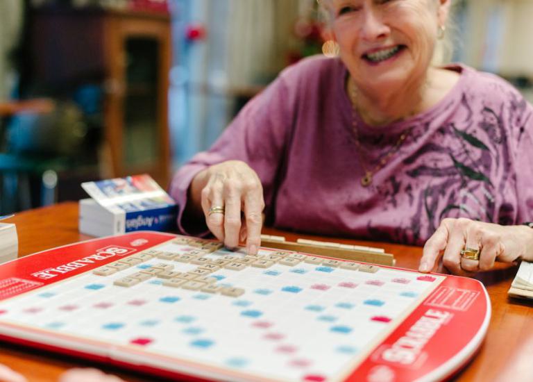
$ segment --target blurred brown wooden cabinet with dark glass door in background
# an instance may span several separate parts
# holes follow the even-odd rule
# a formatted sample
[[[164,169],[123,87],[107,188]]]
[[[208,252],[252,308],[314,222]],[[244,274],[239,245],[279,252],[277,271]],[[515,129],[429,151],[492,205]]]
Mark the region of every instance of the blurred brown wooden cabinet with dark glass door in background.
[[[101,176],[146,172],[166,187],[169,15],[42,8],[32,17],[33,81],[60,94],[84,84],[103,89],[103,158],[108,165]]]

